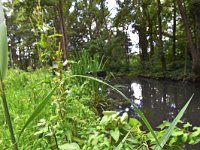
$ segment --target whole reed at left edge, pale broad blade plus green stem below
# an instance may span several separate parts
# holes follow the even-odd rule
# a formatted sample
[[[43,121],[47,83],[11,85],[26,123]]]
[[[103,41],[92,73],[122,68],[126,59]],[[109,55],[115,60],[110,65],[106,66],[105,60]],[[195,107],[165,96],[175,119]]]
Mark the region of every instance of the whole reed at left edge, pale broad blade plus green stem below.
[[[8,109],[8,104],[5,95],[5,88],[3,79],[6,76],[8,68],[8,43],[7,43],[7,29],[5,24],[4,12],[2,2],[0,0],[0,96],[2,98],[4,113],[6,118],[6,123],[8,124],[8,128],[10,131],[10,136],[13,144],[13,149],[17,150],[17,142],[14,135],[14,129],[12,126],[10,113]]]

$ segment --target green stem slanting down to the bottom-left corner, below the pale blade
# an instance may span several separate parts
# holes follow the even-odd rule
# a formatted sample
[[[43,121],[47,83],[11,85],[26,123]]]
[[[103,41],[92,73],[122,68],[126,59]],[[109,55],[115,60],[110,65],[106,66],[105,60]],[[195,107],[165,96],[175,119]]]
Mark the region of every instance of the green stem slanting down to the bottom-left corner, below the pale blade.
[[[8,128],[9,128],[9,131],[10,131],[13,150],[18,150],[17,142],[16,142],[16,139],[15,139],[14,130],[13,130],[13,126],[12,126],[12,122],[11,122],[11,118],[10,118],[10,113],[9,113],[9,109],[8,109],[8,104],[7,104],[7,100],[6,100],[4,84],[3,84],[2,80],[0,80],[0,96],[1,96],[2,101],[3,101],[3,107],[4,107],[6,122],[8,124]]]

